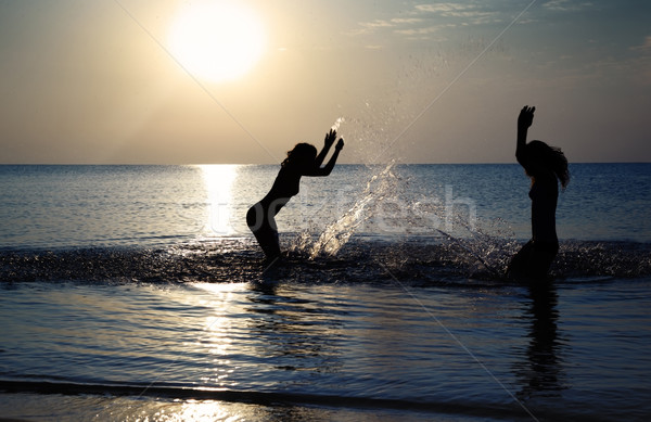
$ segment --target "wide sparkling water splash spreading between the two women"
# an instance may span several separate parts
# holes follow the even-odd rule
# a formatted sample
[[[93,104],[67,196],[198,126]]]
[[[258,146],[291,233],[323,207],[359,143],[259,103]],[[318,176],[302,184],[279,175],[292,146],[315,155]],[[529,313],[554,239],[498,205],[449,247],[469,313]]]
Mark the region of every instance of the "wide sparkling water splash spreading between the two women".
[[[401,255],[400,241],[396,242],[397,239],[433,235],[443,240],[441,246],[454,253],[457,264],[463,267],[476,265],[493,276],[503,272],[516,248],[512,234],[505,232],[505,227],[508,228],[505,221],[484,221],[478,225],[472,215],[467,216],[463,210],[452,206],[451,192],[447,191],[445,200],[435,197],[429,202],[429,206],[422,206],[413,199],[401,197],[400,193],[409,181],[404,180],[398,170],[394,159],[381,171],[374,172],[359,200],[329,225],[316,242],[310,232],[305,231],[294,240],[292,250],[307,253],[311,259],[318,256],[333,257],[362,225],[370,223],[371,232],[386,233],[395,242],[396,256]],[[393,209],[392,205],[399,206],[399,210]]]

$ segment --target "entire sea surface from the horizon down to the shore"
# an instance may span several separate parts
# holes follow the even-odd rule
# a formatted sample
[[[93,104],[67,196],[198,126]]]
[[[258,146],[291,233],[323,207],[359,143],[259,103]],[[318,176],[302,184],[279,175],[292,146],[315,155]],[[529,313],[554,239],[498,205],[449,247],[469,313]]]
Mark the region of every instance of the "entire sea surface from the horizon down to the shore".
[[[651,164],[572,164],[553,281],[518,165],[0,166],[0,420],[647,421]]]

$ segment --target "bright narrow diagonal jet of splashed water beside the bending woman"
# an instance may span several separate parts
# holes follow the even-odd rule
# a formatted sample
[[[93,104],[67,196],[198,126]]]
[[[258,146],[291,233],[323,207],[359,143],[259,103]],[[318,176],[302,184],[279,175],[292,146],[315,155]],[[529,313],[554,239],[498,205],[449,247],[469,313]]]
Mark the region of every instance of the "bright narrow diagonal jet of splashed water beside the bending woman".
[[[379,174],[373,175],[368,181],[366,189],[350,209],[339,220],[331,223],[315,242],[309,253],[310,259],[319,255],[334,256],[355,233],[356,229],[372,216],[369,206],[382,201],[393,190],[392,180],[395,179],[393,168],[395,159]]]

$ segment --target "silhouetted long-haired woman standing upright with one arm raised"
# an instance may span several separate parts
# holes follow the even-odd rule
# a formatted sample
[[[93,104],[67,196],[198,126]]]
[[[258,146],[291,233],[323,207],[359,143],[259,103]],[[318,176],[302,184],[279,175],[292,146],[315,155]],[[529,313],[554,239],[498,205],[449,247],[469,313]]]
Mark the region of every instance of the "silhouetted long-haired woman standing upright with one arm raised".
[[[532,240],[513,257],[508,274],[515,279],[544,279],[559,251],[556,232],[558,182],[570,182],[567,159],[560,149],[541,141],[526,143],[536,107],[524,106],[518,117],[515,157],[532,179]]]

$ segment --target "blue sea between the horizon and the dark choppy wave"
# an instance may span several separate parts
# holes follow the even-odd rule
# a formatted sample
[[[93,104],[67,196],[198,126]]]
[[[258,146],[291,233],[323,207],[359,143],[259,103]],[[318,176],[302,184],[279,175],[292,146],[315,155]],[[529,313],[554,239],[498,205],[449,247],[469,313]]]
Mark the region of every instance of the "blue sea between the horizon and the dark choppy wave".
[[[243,214],[278,166],[0,166],[0,248],[166,246],[248,236]],[[560,195],[561,239],[651,242],[650,164],[574,164]],[[374,178],[373,178],[374,177]],[[514,165],[335,167],[304,178],[282,232],[320,234],[357,205],[367,235],[528,239],[528,179]],[[366,201],[365,201],[366,200]],[[363,204],[361,204],[363,202]],[[471,216],[471,213],[472,214]],[[474,217],[474,218],[471,218]]]

